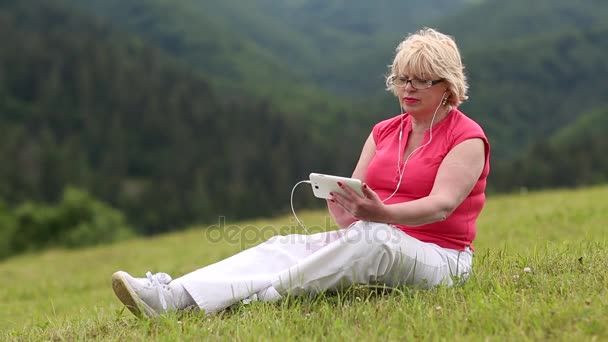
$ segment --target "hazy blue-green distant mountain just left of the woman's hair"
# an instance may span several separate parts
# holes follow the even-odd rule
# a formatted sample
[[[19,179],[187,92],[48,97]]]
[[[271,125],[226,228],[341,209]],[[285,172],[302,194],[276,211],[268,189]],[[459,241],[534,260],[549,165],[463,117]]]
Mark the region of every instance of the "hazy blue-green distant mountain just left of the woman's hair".
[[[264,9],[266,16],[281,18],[286,24],[284,26],[305,37],[303,39],[308,41],[306,46],[313,54],[303,66],[310,70],[308,72],[314,82],[349,97],[355,94],[367,97],[370,93],[383,91],[382,77],[399,40],[420,26],[457,11],[469,1],[253,2]],[[299,41],[294,40],[296,43]],[[273,53],[281,55],[280,50]],[[292,61],[296,68],[300,63],[289,55],[284,58]]]

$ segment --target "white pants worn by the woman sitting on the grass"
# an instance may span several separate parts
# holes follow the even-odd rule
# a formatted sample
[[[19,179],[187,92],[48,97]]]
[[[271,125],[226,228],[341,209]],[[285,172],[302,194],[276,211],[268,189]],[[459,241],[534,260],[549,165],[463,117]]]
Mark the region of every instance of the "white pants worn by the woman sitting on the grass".
[[[471,272],[470,249],[421,242],[393,226],[357,222],[313,235],[274,236],[176,279],[207,313],[244,299],[276,300],[353,284],[452,285]]]

